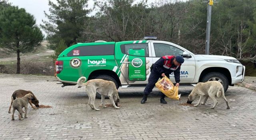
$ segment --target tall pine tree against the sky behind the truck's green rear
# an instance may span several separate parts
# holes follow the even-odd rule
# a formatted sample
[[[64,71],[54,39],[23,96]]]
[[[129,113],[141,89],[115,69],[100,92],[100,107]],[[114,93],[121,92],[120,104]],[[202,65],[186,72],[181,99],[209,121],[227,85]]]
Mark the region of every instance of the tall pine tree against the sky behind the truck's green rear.
[[[40,25],[46,31],[47,40],[52,44],[50,48],[53,50],[61,39],[67,46],[77,42],[90,12],[86,9],[88,0],[56,1],[57,4],[49,1],[50,14],[44,12],[49,22],[43,21],[44,24]]]

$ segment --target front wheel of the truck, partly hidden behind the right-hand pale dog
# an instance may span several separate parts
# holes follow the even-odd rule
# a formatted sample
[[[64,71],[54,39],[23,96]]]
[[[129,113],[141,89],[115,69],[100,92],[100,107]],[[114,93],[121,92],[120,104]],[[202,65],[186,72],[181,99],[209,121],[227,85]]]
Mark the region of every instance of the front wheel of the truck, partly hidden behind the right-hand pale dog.
[[[207,81],[219,81],[224,88],[224,92],[228,90],[228,78],[220,72],[210,72],[206,74],[202,78],[202,82],[207,82]]]

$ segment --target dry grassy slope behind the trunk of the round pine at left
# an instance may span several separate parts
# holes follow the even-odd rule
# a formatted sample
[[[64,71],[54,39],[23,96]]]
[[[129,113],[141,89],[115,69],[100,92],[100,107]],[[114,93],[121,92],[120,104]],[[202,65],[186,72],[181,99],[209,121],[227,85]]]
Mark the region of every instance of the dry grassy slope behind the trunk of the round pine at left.
[[[40,46],[28,53],[20,54],[20,73],[54,75],[54,61],[50,50],[47,49],[48,41],[43,41]],[[17,58],[15,52],[6,53],[0,49],[0,73],[15,74]]]

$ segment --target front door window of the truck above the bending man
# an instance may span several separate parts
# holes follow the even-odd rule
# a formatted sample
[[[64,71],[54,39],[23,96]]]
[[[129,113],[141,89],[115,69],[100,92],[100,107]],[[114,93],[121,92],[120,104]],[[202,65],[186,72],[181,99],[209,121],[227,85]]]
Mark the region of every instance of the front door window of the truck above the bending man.
[[[156,57],[162,57],[165,55],[181,56],[184,52],[183,50],[180,50],[175,46],[162,44],[162,43],[154,43],[154,49],[155,49]]]

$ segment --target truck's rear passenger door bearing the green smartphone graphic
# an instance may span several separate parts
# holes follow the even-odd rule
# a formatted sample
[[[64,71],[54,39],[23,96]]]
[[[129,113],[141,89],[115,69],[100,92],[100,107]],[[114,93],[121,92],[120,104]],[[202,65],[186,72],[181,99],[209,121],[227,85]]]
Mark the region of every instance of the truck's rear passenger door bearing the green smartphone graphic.
[[[122,85],[148,83],[153,61],[147,40],[116,42],[115,54]]]

